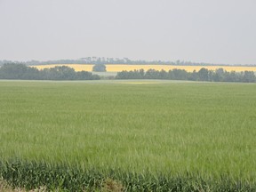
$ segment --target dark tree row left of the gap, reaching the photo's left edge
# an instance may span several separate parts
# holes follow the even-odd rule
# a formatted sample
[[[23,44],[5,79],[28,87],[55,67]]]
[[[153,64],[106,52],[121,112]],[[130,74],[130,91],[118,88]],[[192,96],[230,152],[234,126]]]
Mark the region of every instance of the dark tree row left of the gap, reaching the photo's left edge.
[[[92,75],[87,71],[76,72],[74,68],[67,66],[44,68],[30,68],[24,64],[4,64],[0,68],[0,79],[24,79],[24,80],[96,80],[98,75]]]

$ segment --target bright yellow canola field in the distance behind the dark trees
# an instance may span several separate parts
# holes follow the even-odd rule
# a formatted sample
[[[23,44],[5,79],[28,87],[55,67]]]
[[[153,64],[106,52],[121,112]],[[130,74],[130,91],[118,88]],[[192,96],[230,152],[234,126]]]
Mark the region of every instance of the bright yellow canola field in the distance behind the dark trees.
[[[44,68],[54,68],[55,66],[68,66],[70,68],[74,68],[76,71],[92,71],[93,65],[88,64],[51,64],[51,65],[38,65],[38,66],[32,66],[38,69],[44,69]],[[147,71],[150,68],[156,69],[156,70],[162,70],[169,71],[173,68],[179,68],[179,69],[185,69],[188,72],[192,72],[194,70],[198,71],[201,68],[208,68],[209,70],[215,70],[216,68],[224,68],[227,71],[254,71],[256,72],[256,67],[240,67],[240,66],[171,66],[171,65],[124,65],[124,64],[108,64],[106,65],[108,72],[120,72],[123,70],[139,70],[140,68],[143,68],[145,71]]]

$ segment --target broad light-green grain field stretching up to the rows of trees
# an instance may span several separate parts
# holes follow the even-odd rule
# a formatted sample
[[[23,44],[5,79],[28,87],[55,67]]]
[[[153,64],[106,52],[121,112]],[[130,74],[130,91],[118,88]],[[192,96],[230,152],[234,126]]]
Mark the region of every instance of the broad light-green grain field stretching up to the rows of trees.
[[[161,178],[254,191],[255,138],[256,84],[0,81],[0,178],[16,186],[29,169],[8,176],[6,164],[20,161],[94,170],[134,191],[170,189]]]

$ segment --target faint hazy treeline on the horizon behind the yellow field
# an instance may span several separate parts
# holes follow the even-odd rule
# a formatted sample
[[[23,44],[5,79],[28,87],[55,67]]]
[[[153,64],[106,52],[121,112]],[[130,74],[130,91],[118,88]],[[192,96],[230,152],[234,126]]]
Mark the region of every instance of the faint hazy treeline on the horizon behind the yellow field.
[[[11,61],[11,60],[0,60],[0,65],[4,63],[20,63],[20,61]],[[26,62],[22,62],[26,65],[47,65],[47,64],[140,64],[140,65],[150,65],[150,64],[160,64],[160,65],[180,65],[180,66],[210,66],[216,65],[213,63],[205,63],[205,62],[192,62],[192,61],[184,61],[184,60],[176,60],[176,61],[164,61],[164,60],[130,60],[128,58],[105,58],[105,57],[85,57],[78,60],[47,60],[47,61],[38,61],[38,60],[29,60]],[[221,66],[228,66],[227,64],[218,64]],[[236,64],[236,66],[241,66]],[[244,66],[252,66],[252,65],[244,65]],[[255,66],[255,65],[254,65]]]

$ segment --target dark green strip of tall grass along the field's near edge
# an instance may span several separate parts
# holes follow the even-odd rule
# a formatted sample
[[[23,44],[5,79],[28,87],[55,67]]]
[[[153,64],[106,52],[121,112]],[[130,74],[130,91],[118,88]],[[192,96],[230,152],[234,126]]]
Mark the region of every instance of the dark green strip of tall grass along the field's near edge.
[[[22,162],[0,164],[1,176],[13,188],[42,188],[64,191],[255,191],[256,185],[246,180],[203,179],[200,175],[151,174],[120,170],[82,170],[67,164]],[[104,190],[105,189],[105,190]]]

